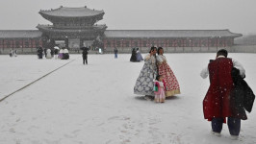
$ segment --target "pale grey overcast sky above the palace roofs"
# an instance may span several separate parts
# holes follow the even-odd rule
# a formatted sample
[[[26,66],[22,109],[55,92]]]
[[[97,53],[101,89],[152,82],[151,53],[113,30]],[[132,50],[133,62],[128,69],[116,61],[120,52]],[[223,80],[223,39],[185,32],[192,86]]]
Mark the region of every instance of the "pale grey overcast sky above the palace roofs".
[[[217,30],[256,34],[256,0],[1,0],[0,30],[50,24],[40,10],[104,10],[108,30]]]

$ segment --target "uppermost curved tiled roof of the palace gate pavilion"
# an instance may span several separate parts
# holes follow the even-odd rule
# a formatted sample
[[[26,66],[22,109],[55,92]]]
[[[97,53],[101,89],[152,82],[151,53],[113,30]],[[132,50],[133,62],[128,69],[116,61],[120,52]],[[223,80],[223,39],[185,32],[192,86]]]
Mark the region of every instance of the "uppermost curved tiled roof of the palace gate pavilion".
[[[90,10],[87,7],[82,7],[82,8],[60,7],[55,10],[40,11],[39,13],[50,15],[50,16],[58,16],[58,17],[87,17],[87,16],[102,14],[104,13],[104,11]]]

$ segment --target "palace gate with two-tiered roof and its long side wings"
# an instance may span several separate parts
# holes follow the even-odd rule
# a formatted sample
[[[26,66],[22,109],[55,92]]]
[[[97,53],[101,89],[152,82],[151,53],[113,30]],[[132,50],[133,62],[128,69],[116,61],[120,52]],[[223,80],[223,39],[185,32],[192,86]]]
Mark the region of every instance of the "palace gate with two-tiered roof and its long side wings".
[[[216,51],[231,48],[234,38],[241,34],[229,30],[106,30],[106,25],[97,25],[104,11],[87,7],[39,11],[52,25],[38,25],[38,30],[0,30],[0,50],[20,49],[36,51],[38,46],[53,48],[68,47],[71,51],[87,46],[101,47],[105,51],[117,48],[130,52],[132,47],[148,50],[152,45],[162,46],[167,51],[196,52]]]

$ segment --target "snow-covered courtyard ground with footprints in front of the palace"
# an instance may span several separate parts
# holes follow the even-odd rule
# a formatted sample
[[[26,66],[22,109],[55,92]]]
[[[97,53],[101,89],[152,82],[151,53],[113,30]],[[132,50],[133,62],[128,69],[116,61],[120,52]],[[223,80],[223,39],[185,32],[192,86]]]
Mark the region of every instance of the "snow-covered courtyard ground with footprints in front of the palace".
[[[142,54],[144,56],[145,54]],[[239,140],[210,133],[202,100],[209,86],[199,72],[215,54],[166,54],[182,94],[164,104],[133,94],[143,62],[131,55],[81,55],[70,60],[0,55],[0,99],[61,67],[0,102],[1,144],[255,144],[256,108],[242,121]],[[229,54],[243,63],[256,91],[256,54]]]

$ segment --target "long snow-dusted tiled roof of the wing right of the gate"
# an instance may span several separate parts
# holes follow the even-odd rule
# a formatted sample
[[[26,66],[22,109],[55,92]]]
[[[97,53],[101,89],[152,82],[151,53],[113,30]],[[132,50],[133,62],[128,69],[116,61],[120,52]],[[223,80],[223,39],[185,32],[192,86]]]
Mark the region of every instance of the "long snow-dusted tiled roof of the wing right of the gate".
[[[242,36],[229,30],[106,30],[106,37],[216,37]]]

